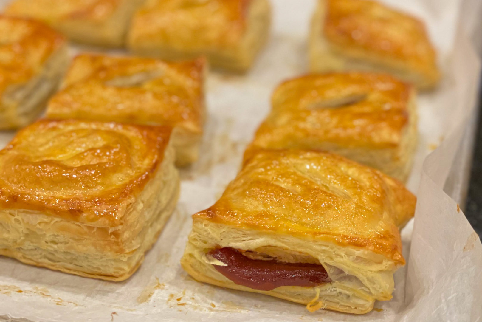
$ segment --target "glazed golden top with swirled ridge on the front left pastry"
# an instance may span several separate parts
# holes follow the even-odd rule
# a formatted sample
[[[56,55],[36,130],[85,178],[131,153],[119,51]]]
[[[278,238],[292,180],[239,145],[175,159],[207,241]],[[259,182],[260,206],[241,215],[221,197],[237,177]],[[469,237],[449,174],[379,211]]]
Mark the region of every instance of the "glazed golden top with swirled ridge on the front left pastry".
[[[0,151],[0,207],[117,225],[170,135],[160,126],[37,121]]]

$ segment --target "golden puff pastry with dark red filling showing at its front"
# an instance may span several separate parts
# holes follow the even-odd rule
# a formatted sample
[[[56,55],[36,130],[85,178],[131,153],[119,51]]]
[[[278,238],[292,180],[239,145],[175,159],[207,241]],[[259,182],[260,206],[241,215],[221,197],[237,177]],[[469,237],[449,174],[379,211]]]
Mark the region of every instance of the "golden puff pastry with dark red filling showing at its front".
[[[328,152],[262,151],[193,215],[181,265],[200,282],[310,311],[366,313],[392,297],[405,263],[399,227],[414,212],[415,196],[377,170]]]

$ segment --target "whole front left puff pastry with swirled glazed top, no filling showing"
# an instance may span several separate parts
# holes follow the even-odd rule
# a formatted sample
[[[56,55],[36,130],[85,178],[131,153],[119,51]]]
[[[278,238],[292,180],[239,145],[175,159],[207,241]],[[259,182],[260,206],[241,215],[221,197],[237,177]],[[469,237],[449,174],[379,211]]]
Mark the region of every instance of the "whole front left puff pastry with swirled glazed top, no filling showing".
[[[127,279],[177,201],[171,131],[76,120],[21,130],[0,151],[0,255]]]

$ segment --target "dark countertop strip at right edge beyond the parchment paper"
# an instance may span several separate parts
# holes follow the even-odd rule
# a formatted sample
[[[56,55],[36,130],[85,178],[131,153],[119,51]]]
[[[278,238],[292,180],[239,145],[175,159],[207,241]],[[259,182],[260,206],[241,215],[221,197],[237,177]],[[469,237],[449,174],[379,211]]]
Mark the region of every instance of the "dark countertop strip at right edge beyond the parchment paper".
[[[482,237],[482,94],[479,95],[479,121],[475,135],[465,215],[475,231]]]

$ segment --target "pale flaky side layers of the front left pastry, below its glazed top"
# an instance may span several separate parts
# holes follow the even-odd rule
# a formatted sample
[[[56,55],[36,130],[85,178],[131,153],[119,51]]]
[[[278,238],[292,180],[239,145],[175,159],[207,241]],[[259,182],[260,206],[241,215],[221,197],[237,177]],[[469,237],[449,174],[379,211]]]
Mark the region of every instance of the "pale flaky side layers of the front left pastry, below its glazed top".
[[[174,211],[179,175],[169,147],[159,170],[117,226],[26,209],[0,210],[0,255],[84,277],[123,281],[140,266]]]

